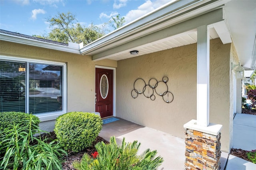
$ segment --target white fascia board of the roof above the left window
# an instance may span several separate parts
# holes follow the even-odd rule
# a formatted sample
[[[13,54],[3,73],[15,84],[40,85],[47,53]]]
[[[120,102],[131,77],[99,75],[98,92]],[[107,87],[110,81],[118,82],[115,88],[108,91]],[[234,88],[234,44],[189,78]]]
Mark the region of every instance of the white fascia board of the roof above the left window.
[[[58,44],[42,42],[42,41],[38,41],[38,40],[32,40],[29,38],[12,36],[10,34],[0,33],[0,40],[7,41],[7,42],[13,42],[13,43],[20,43],[20,44],[25,44],[25,45],[31,45],[31,46],[41,47],[41,48],[54,49],[54,50],[64,51],[64,52],[69,52],[69,53],[80,54],[80,51],[78,48],[72,48],[72,47],[68,47],[68,46],[64,46],[64,45],[58,45]]]

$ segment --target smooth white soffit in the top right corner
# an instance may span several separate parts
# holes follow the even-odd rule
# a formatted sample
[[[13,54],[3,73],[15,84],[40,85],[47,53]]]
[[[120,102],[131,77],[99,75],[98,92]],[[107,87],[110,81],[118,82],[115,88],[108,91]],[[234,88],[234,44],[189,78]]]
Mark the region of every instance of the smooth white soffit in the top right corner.
[[[232,0],[225,4],[224,17],[242,67],[256,67],[256,0]]]

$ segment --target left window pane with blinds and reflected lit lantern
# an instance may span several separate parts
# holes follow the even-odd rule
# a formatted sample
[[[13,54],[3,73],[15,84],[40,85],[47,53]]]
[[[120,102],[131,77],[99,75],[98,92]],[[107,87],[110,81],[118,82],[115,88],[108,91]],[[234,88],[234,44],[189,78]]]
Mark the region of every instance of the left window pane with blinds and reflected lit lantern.
[[[0,61],[0,112],[25,112],[26,63]]]

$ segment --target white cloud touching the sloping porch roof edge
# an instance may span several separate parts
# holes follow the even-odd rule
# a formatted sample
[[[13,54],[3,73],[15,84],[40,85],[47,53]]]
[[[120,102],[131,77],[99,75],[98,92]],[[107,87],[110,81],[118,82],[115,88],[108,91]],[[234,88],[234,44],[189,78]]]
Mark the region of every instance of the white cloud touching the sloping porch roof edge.
[[[155,10],[156,8],[170,2],[170,0],[147,0],[144,4],[140,5],[136,10],[130,10],[124,16],[126,23],[140,18],[141,16]]]

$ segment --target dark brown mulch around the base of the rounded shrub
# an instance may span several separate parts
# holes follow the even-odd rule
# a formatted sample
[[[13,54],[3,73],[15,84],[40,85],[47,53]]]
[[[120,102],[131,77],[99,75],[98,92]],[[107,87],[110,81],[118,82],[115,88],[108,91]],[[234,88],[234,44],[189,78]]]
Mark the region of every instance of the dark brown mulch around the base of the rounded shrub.
[[[47,138],[51,138],[51,139],[56,139],[56,134],[54,132],[50,132],[49,134],[41,134],[41,136],[46,136]],[[49,140],[47,142],[50,142],[52,140]],[[87,153],[89,155],[92,155],[92,153],[94,153],[96,150],[96,148],[94,147],[94,145],[98,142],[104,142],[104,143],[109,143],[107,140],[105,140],[104,138],[97,136],[96,140],[92,143],[92,146],[85,148],[84,150],[80,151],[80,152],[71,152],[68,151],[68,156],[65,156],[65,162],[62,163],[62,168],[63,170],[75,170],[75,168],[72,166],[72,162],[74,160],[81,160],[82,156]]]

